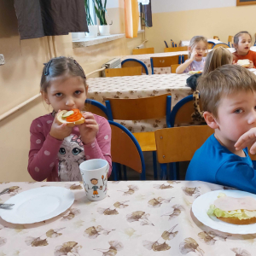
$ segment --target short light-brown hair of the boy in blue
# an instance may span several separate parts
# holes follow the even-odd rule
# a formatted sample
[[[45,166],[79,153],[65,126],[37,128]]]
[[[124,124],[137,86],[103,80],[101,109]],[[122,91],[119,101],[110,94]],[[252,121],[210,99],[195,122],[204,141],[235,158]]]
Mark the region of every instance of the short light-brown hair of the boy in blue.
[[[218,106],[224,96],[239,91],[256,92],[256,75],[245,67],[224,65],[198,79],[202,108],[218,119]]]

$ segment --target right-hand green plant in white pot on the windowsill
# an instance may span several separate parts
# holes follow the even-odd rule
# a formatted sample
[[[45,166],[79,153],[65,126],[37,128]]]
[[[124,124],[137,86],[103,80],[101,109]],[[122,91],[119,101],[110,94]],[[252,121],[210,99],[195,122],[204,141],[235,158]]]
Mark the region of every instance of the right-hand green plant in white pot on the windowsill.
[[[104,5],[102,4],[102,0],[95,0],[95,12],[97,17],[100,20],[101,25],[99,26],[99,29],[100,29],[100,34],[102,36],[110,35],[110,28],[105,16],[107,13],[106,5],[107,5],[107,0],[105,0]]]

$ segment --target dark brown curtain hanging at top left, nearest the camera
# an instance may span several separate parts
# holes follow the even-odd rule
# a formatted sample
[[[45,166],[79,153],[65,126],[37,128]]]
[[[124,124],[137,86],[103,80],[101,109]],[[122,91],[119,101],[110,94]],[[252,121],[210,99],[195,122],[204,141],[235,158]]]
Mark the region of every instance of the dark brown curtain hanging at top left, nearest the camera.
[[[15,0],[20,39],[88,32],[84,0]]]

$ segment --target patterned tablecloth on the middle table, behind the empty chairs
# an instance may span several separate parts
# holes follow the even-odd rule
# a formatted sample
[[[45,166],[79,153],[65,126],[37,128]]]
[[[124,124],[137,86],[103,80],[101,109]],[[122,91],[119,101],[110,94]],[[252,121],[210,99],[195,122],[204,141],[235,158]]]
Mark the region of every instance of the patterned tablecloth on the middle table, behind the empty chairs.
[[[172,108],[192,93],[186,86],[188,73],[87,79],[88,98],[102,102],[106,98],[141,98],[172,93]],[[155,131],[166,127],[166,119],[119,121],[132,132]]]

